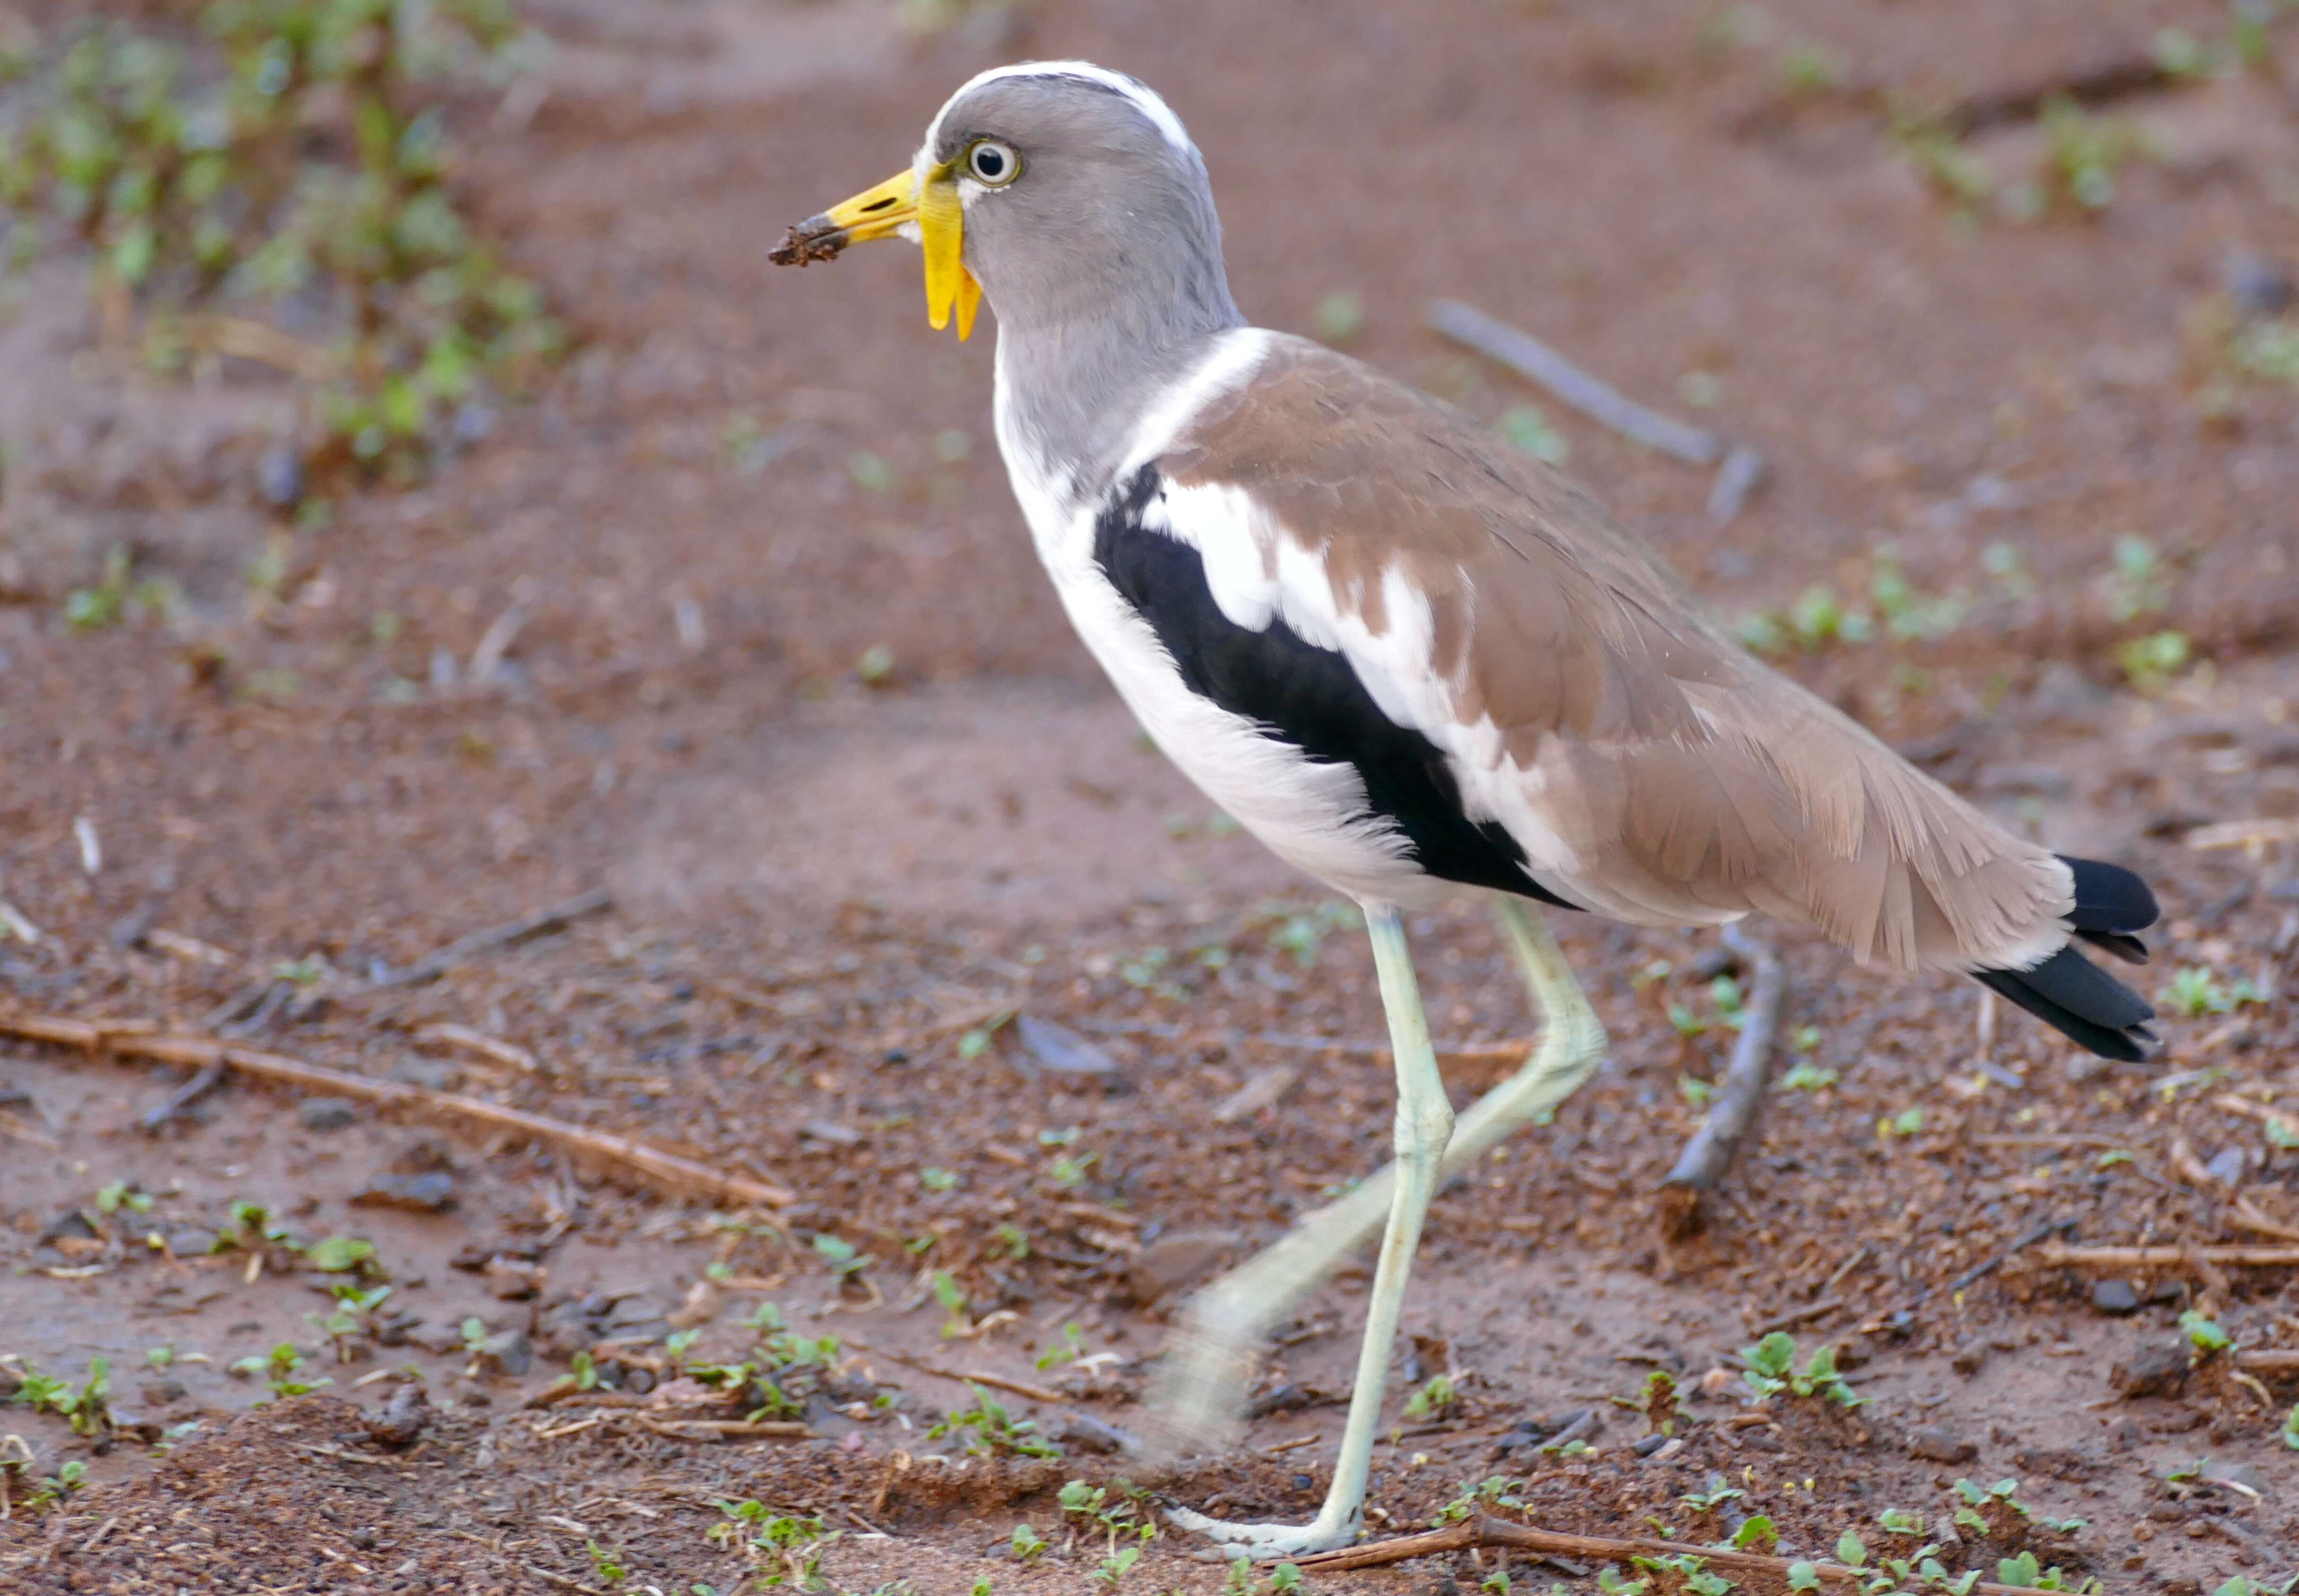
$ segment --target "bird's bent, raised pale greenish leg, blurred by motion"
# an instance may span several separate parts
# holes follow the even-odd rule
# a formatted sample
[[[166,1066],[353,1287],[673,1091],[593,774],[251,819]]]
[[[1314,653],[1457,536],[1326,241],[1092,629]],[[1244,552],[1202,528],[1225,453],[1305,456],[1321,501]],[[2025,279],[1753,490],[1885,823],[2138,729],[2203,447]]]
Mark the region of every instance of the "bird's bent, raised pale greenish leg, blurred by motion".
[[[1573,980],[1540,911],[1515,897],[1497,897],[1497,911],[1531,991],[1533,1010],[1545,1026],[1524,1069],[1485,1092],[1453,1127],[1453,1138],[1437,1168],[1437,1184],[1490,1152],[1510,1131],[1543,1120],[1589,1079],[1605,1056],[1605,1028],[1582,996],[1579,982]],[[1386,1003],[1386,977],[1382,991]],[[1414,1014],[1418,1016],[1418,996]],[[1391,1010],[1391,1023],[1395,1026],[1395,1010]],[[1159,1391],[1152,1398],[1152,1433],[1168,1451],[1221,1451],[1230,1444],[1239,1426],[1253,1357],[1269,1327],[1361,1246],[1393,1205],[1395,1166],[1389,1166],[1347,1196],[1308,1214],[1285,1240],[1191,1299],[1168,1343]],[[1350,1414],[1354,1421],[1354,1403]]]

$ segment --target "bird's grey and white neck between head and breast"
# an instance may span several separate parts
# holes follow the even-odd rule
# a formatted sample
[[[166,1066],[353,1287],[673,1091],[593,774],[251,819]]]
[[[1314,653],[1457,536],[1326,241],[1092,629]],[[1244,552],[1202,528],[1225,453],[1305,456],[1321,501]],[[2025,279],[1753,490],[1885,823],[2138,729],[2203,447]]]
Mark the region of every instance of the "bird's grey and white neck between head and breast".
[[[1143,301],[1133,301],[1140,306]],[[998,320],[998,446],[1018,478],[1099,504],[1159,398],[1244,317],[1225,283],[1127,313],[1124,297]]]

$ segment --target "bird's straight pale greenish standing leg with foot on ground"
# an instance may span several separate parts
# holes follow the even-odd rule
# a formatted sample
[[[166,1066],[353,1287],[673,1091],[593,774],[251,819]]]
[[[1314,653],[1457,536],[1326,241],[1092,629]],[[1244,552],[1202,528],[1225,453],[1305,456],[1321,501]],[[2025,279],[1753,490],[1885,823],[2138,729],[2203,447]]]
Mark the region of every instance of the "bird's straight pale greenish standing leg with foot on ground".
[[[1382,1012],[1389,1016],[1389,1046],[1398,1065],[1398,1157],[1391,1166],[1395,1196],[1389,1205],[1389,1228],[1382,1233],[1382,1258],[1373,1269],[1366,1341],[1356,1352],[1356,1384],[1350,1391],[1350,1421],[1340,1433],[1333,1486],[1308,1525],[1228,1525],[1202,1513],[1172,1513],[1184,1529],[1209,1534],[1248,1557],[1294,1557],[1347,1545],[1363,1527],[1366,1470],[1373,1463],[1373,1430],[1382,1421],[1389,1348],[1398,1336],[1398,1313],[1405,1309],[1405,1281],[1421,1244],[1421,1221],[1437,1191],[1437,1161],[1453,1136],[1453,1104],[1446,1102],[1437,1053],[1430,1049],[1421,987],[1405,947],[1405,922],[1386,904],[1368,906],[1366,929],[1373,936],[1373,966],[1382,977]]]

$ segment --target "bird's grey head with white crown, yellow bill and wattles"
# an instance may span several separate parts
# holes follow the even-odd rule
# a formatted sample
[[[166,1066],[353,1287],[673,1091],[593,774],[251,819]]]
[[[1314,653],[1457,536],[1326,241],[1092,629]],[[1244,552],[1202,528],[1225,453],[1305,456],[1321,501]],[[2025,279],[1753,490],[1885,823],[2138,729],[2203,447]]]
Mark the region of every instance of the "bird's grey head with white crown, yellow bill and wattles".
[[[1205,161],[1143,83],[1085,62],[984,71],[908,168],[791,228],[775,264],[904,237],[926,251],[926,320],[959,338],[989,292],[1005,322],[1122,315],[1124,301],[1235,317]]]

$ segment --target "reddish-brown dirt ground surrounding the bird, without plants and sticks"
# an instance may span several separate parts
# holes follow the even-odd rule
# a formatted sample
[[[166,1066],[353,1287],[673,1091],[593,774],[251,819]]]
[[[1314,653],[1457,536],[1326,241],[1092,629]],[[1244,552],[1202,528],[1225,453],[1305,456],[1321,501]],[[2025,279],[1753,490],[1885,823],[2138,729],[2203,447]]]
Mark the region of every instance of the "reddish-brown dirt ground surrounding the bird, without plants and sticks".
[[[23,1447],[0,1465],[30,1458],[0,1467],[0,1589],[1071,1591],[1108,1543],[1064,1516],[1069,1479],[1313,1511],[1363,1269],[1269,1350],[1239,1451],[1145,1470],[1115,1442],[1186,1286],[1384,1161],[1370,957],[1067,635],[991,444],[991,338],[933,338],[899,248],[766,264],[786,223],[899,166],[963,76],[1030,55],[1172,99],[1248,315],[1483,416],[1538,402],[1720,609],[1867,593],[1885,545],[1920,593],[1963,593],[1938,637],[1784,665],[2032,835],[2147,874],[2150,989],[2193,968],[2193,1007],[2219,1010],[2113,1067],[2021,1016],[1984,1039],[1968,982],[1782,936],[1796,1085],[1671,1240],[1658,1184],[1731,1044],[1713,938],[1556,915],[1612,1060],[1437,1203],[1373,1527],[1504,1476],[1510,1516],[1602,1536],[1701,1545],[1761,1513],[1782,1555],[1855,1529],[1883,1557],[1917,1543],[1883,1522],[1901,1511],[1991,1580],[2023,1548],[2110,1591],[2299,1573],[2299,389],[2230,379],[2209,331],[2230,262],[2299,269],[2299,28],[2267,71],[2117,90],[2094,113],[2156,152],[2097,214],[2009,223],[1952,214],[1885,103],[2032,108],[2228,11],[924,14],[531,5],[549,94],[467,106],[458,184],[579,350],[425,485],[287,534],[260,591],[276,379],[108,375],[69,262],[0,301],[0,899],[39,934],[0,941],[0,1003],[221,1028],[789,1194],[683,1203],[455,1118],[239,1079],[147,1134],[189,1072],[7,1044],[0,1391],[103,1357],[110,1424],[0,1407]],[[2042,140],[2007,113],[1968,147],[2025,170]],[[1706,474],[1446,345],[1435,294],[1752,442],[1763,490],[1713,527]],[[182,584],[172,630],[64,626],[117,545]],[[2133,681],[2124,644],[2168,630],[2193,662]],[[2239,821],[2251,846],[2191,846]],[[595,888],[605,911],[377,982]],[[1412,934],[1467,1102],[1531,1021],[1481,913]],[[1032,1049],[1016,1014],[1062,1030]],[[1064,1035],[1099,1062],[1067,1067]],[[372,1260],[329,1276],[359,1251],[338,1237]],[[2046,1244],[2173,1251],[2092,1269]],[[2292,1263],[2198,1251],[2219,1246]],[[352,1276],[391,1297],[329,1336],[324,1286]],[[740,1433],[752,1403],[694,1371],[752,1357],[768,1302],[786,1338],[837,1348],[784,1341],[791,1433]],[[2193,1345],[2186,1313],[2235,1348]],[[1835,1345],[1867,1405],[1756,1403],[1738,1355],[1768,1329]],[[271,1401],[230,1373],[280,1343],[303,1359],[283,1387],[331,1384]],[[554,1389],[582,1368],[595,1387]],[[1651,1371],[1683,1378],[1669,1442],[1632,1407]],[[931,1435],[968,1373],[1062,1456]],[[1407,1417],[1435,1375],[1455,1401]],[[416,1384],[428,1426],[393,1444],[370,1421]],[[1586,1447],[1540,1451],[1584,1412]],[[67,1463],[87,1483],[28,1506]],[[1959,1529],[1959,1479],[2016,1479],[2032,1518]],[[821,1518],[816,1575],[807,1550],[710,1539],[720,1502]],[[1186,1552],[1150,1541],[1117,1587],[1223,1589]],[[1596,1575],[1485,1550],[1310,1589]]]

